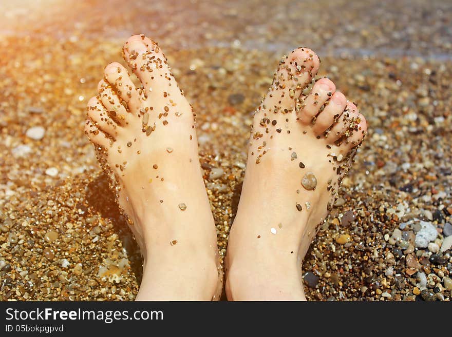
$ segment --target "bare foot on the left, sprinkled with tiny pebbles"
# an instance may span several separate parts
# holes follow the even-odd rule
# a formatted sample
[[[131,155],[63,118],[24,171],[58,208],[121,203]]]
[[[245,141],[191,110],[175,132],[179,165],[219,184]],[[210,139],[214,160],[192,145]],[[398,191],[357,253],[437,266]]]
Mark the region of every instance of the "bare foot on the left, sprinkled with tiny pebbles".
[[[137,299],[218,299],[222,273],[192,108],[155,42],[134,35],[123,52],[141,86],[109,64],[85,133],[144,256]]]

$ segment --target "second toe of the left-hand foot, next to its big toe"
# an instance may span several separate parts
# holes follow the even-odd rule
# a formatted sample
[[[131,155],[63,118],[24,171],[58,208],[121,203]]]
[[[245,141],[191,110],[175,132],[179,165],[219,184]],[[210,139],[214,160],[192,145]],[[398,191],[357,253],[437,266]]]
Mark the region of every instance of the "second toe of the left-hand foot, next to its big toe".
[[[140,97],[132,80],[125,69],[118,62],[110,63],[104,70],[105,81],[108,82],[119,98],[126,102],[128,112],[138,111]]]

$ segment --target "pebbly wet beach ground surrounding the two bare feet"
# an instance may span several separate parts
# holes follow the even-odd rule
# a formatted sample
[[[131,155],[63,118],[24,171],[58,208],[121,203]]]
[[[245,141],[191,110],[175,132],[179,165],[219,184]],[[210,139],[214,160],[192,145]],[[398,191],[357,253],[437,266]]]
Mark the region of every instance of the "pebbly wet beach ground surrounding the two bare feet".
[[[222,257],[252,112],[304,45],[370,125],[304,261],[308,299],[450,301],[449,2],[21,3],[0,5],[0,300],[135,298],[138,246],[83,124],[104,66],[145,33],[197,113]]]

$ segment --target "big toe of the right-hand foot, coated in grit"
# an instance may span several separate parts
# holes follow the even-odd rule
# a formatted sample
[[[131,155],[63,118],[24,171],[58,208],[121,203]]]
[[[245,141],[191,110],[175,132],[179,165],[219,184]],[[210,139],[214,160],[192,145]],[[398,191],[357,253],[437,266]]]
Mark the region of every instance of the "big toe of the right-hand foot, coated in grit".
[[[281,58],[271,87],[281,105],[287,106],[289,101],[295,103],[311,83],[319,64],[318,56],[308,48],[297,48]]]

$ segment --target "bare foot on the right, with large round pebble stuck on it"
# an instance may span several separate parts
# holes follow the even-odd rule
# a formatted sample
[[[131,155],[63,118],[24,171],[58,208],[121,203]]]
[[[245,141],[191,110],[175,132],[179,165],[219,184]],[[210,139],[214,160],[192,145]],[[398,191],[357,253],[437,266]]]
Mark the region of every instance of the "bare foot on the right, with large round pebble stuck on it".
[[[367,130],[356,106],[321,78],[319,60],[283,57],[256,110],[227,253],[228,299],[305,300],[301,264]]]

